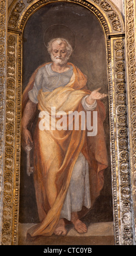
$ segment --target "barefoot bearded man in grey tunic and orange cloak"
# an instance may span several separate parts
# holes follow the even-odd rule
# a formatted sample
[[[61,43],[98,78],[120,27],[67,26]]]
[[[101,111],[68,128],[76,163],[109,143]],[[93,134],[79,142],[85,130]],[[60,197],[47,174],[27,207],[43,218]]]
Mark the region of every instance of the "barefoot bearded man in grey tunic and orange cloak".
[[[53,39],[48,44],[51,63],[41,65],[24,90],[22,99],[22,142],[34,144],[34,186],[40,223],[28,230],[30,236],[66,235],[66,220],[78,233],[87,227],[79,216],[91,209],[103,187],[103,172],[107,168],[104,137],[104,106],[106,94],[86,88],[86,76],[68,63],[72,47],[65,39]],[[86,130],[40,130],[39,118],[34,137],[28,126],[36,108],[65,111],[97,111],[98,131],[87,137]],[[54,118],[54,122],[58,119]],[[76,119],[73,117],[73,123]]]

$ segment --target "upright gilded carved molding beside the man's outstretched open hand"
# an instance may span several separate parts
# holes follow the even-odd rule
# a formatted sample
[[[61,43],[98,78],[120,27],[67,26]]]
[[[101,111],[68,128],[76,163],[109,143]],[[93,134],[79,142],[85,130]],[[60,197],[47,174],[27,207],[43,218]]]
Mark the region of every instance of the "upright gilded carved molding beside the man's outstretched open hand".
[[[134,244],[131,171],[129,167],[125,39],[114,40],[115,100],[119,175],[121,245]]]

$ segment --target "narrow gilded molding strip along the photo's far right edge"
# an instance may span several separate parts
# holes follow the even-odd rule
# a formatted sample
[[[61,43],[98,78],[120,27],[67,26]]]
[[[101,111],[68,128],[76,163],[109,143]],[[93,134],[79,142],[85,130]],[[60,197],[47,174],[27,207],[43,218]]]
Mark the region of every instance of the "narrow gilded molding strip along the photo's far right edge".
[[[131,166],[131,185],[133,198],[134,224],[136,228],[136,10],[135,1],[126,0],[126,59],[127,59],[127,92],[128,92],[128,120],[129,120],[129,148]],[[136,237],[135,237],[136,239]]]

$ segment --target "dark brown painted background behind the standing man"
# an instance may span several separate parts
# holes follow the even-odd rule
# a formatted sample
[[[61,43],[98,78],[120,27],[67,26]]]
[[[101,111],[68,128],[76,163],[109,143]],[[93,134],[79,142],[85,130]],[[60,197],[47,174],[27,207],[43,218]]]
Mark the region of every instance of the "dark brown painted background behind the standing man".
[[[39,65],[50,62],[50,55],[44,44],[44,34],[54,24],[68,26],[75,33],[76,47],[70,62],[77,65],[88,76],[90,90],[101,87],[108,92],[106,39],[100,22],[90,10],[74,3],[53,3],[42,7],[33,14],[23,32],[23,85],[27,86],[30,76]],[[112,181],[110,170],[110,138],[108,97],[103,100],[107,118],[104,121],[109,167],[104,173],[104,187],[93,209],[84,217],[86,222],[112,221]],[[22,223],[39,222],[36,208],[33,174],[26,173],[26,153],[21,151],[20,217]]]

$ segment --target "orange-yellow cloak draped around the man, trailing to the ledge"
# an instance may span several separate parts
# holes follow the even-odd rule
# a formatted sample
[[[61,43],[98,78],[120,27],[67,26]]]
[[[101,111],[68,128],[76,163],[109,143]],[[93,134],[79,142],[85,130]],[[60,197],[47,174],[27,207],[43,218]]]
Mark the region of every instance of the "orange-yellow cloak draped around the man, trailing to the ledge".
[[[46,65],[46,64],[44,64]],[[90,90],[84,89],[87,78],[72,63],[73,75],[65,87],[58,87],[53,92],[39,91],[38,109],[50,115],[48,130],[39,129],[42,118],[39,118],[34,134],[34,186],[40,223],[28,230],[31,236],[52,235],[58,224],[60,212],[69,188],[73,167],[79,154],[88,160],[90,172],[90,197],[93,205],[103,187],[104,169],[107,168],[107,150],[103,121],[106,117],[104,106],[97,101],[97,135],[87,136],[87,130],[82,129],[81,118],[73,116],[73,127],[79,121],[79,130],[69,130],[69,111],[84,111],[81,101]],[[28,100],[28,92],[33,88],[34,72],[22,97],[22,112]],[[52,130],[57,126],[59,118],[52,114],[65,113],[65,129]],[[92,117],[92,116],[91,116]],[[52,122],[51,122],[52,119]],[[92,120],[91,120],[92,121]],[[51,125],[53,125],[51,127]],[[85,124],[84,124],[85,125]],[[82,214],[82,212],[81,212]]]

